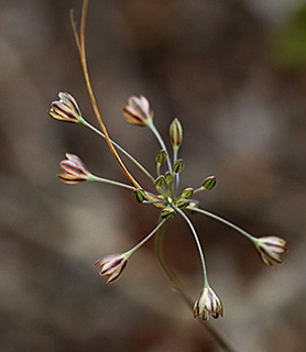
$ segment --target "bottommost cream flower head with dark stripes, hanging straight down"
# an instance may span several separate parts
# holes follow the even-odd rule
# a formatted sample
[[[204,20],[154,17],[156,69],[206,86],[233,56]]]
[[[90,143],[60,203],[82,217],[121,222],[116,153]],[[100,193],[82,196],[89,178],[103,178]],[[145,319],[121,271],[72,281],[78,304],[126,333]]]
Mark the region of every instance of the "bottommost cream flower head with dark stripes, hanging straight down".
[[[220,298],[211,287],[204,287],[194,305],[194,317],[200,320],[208,320],[209,316],[217,319],[223,315],[223,307]]]

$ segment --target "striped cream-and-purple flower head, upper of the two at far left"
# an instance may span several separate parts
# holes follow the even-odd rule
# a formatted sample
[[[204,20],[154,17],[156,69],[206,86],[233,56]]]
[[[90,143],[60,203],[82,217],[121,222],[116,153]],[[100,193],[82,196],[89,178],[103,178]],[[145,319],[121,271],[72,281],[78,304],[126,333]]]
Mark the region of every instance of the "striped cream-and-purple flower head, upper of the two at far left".
[[[48,111],[56,120],[79,123],[83,118],[78,105],[68,92],[58,94],[59,101],[53,101]]]

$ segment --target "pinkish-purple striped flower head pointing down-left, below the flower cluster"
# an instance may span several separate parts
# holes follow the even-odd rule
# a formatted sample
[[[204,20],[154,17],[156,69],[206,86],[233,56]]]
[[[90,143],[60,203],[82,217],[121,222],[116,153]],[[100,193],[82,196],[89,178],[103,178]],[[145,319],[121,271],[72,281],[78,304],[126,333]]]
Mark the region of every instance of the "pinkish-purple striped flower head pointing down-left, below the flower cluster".
[[[107,255],[95,263],[95,266],[101,266],[100,275],[108,276],[107,284],[116,282],[127,265],[124,254]]]

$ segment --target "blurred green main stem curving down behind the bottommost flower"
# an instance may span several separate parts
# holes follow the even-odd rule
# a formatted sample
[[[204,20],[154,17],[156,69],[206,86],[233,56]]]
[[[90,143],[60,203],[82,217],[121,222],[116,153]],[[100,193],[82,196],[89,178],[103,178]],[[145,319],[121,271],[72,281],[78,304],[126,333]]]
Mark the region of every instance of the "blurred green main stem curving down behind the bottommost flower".
[[[172,284],[172,286],[178,292],[183,300],[186,302],[186,305],[194,310],[194,302],[193,300],[186,295],[184,289],[182,288],[179,282],[176,279],[174,273],[168,267],[168,265],[165,262],[164,255],[163,255],[163,235],[164,235],[164,227],[161,227],[156,233],[156,244],[155,244],[155,253],[159,261],[159,264],[164,272],[165,276]],[[203,323],[199,321],[201,327],[208,331],[208,333],[215,339],[215,341],[227,352],[234,352],[228,343],[223,340],[223,338],[219,334],[219,332],[209,326],[209,323]]]

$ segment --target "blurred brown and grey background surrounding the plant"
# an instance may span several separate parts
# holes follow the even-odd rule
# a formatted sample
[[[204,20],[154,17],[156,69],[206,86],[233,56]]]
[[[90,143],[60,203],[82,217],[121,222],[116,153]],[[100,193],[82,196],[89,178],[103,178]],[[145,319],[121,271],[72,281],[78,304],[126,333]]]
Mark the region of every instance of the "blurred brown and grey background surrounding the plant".
[[[0,1],[0,350],[221,351],[170,289],[154,241],[107,285],[92,263],[133,246],[156,208],[129,190],[56,179],[66,152],[95,174],[125,182],[106,143],[51,119],[58,91],[96,124],[69,23],[79,0]],[[110,135],[152,173],[159,145],[122,107],[144,95],[168,142],[184,127],[182,187],[215,175],[204,209],[255,235],[287,240],[266,267],[239,233],[192,216],[225,317],[209,324],[245,352],[300,352],[306,324],[306,6],[303,0],[103,0],[89,3],[87,53]],[[150,182],[127,162],[143,187]],[[165,253],[188,295],[201,267],[176,217]]]

